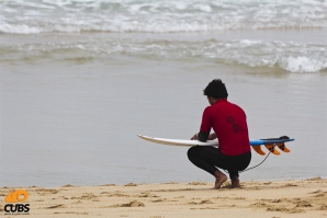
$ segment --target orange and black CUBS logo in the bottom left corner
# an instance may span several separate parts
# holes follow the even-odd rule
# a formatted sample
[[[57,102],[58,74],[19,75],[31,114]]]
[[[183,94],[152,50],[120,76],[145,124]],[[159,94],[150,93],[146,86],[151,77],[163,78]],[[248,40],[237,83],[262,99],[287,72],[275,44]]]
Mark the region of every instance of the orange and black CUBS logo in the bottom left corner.
[[[30,204],[22,204],[27,199],[29,193],[24,190],[15,190],[9,193],[4,198],[7,203],[10,203],[4,205],[4,215],[29,215]]]

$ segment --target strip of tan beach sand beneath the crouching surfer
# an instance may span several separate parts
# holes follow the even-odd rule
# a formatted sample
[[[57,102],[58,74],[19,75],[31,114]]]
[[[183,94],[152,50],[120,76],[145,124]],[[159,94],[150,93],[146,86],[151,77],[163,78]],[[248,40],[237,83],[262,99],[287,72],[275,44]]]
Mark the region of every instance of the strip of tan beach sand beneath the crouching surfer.
[[[212,190],[213,183],[26,187],[29,217],[327,217],[327,180],[243,182]],[[0,188],[4,197],[18,187]],[[16,217],[4,215],[4,217]]]

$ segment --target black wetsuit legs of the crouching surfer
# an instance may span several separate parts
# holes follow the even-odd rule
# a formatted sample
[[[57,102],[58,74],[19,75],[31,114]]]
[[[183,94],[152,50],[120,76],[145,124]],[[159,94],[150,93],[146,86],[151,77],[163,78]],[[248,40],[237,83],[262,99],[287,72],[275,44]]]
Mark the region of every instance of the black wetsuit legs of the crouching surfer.
[[[194,146],[188,151],[189,160],[214,175],[216,168],[227,170],[229,177],[238,176],[238,171],[245,170],[251,161],[251,151],[238,156],[226,156],[219,148],[212,146]]]

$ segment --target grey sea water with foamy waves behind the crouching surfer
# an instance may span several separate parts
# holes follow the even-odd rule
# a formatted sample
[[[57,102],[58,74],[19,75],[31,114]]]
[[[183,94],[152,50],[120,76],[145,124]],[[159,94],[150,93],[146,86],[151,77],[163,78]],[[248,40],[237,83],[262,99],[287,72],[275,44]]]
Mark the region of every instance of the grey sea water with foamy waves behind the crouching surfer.
[[[325,0],[2,0],[0,74],[0,186],[213,181],[136,134],[191,138],[216,78],[295,138],[241,181],[327,177]]]

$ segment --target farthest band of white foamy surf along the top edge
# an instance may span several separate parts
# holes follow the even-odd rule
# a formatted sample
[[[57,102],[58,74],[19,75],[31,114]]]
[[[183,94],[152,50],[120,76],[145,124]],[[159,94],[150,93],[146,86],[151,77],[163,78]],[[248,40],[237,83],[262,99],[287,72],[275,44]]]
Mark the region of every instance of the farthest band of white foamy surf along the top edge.
[[[12,0],[0,1],[0,14],[3,33],[22,34],[19,25],[30,33],[327,27],[327,1],[315,0]]]

